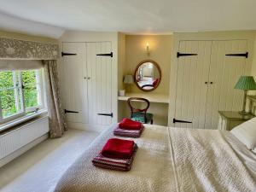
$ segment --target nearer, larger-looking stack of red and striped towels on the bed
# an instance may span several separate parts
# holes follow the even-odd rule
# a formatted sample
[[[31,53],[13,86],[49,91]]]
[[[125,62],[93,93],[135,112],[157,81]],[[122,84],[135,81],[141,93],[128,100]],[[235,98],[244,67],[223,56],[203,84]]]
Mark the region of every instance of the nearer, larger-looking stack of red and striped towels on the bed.
[[[92,160],[92,164],[105,169],[129,171],[136,151],[137,144],[134,141],[111,138],[102,152]]]

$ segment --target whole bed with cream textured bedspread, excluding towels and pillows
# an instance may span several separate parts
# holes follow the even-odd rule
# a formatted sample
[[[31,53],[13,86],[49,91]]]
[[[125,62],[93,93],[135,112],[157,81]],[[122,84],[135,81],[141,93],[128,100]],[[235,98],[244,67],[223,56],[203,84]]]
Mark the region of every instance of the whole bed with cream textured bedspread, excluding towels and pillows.
[[[91,160],[114,137],[115,126],[103,131],[67,169],[55,192],[256,189],[256,154],[228,131],[145,125],[142,137],[132,138],[138,150],[130,172],[96,168]]]

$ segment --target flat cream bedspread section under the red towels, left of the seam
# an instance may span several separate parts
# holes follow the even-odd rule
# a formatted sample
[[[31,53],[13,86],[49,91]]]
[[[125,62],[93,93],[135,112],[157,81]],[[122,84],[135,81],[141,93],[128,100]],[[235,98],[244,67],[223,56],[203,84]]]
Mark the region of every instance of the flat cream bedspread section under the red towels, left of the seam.
[[[118,172],[97,168],[91,160],[98,154],[112,128],[104,131],[63,175],[55,191],[61,192],[165,192],[177,191],[169,151],[168,128],[146,126],[137,143],[131,171]],[[125,138],[129,139],[129,138]],[[130,138],[131,139],[131,138]]]

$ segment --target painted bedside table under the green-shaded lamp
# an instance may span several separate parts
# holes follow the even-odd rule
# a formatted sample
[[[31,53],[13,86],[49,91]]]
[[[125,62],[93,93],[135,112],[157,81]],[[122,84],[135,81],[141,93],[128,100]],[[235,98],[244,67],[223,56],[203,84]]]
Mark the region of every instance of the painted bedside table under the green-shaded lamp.
[[[241,114],[237,111],[218,111],[218,130],[232,130],[235,126],[252,119],[253,114]]]

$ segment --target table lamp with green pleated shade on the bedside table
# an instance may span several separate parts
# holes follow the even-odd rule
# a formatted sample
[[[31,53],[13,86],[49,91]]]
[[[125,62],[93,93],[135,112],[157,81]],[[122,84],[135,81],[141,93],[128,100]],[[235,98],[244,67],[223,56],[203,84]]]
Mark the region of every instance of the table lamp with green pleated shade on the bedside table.
[[[246,102],[247,102],[247,91],[248,90],[256,90],[256,84],[253,79],[253,76],[241,76],[235,85],[235,89],[244,90],[243,103],[242,103],[242,111],[239,112],[241,114],[246,114]]]

